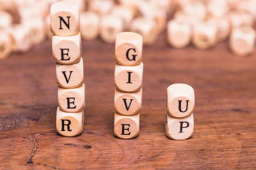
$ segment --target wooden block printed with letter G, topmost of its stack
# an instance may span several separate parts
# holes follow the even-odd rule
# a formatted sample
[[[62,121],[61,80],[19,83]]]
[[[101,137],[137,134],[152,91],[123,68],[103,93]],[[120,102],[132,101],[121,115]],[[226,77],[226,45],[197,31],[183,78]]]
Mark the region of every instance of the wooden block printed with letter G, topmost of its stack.
[[[123,66],[135,66],[142,60],[142,36],[133,32],[121,32],[116,36],[115,60]]]

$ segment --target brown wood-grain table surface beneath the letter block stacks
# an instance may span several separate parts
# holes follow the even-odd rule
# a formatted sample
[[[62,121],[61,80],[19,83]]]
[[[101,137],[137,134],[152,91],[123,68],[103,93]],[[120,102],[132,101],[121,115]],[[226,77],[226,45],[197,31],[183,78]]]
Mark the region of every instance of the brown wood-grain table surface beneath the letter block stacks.
[[[51,41],[0,61],[1,170],[220,170],[256,168],[256,54],[236,57],[227,42],[173,49],[166,35],[144,46],[140,133],[114,128],[115,45],[82,41],[85,119],[81,135],[56,132],[57,83]],[[165,135],[166,88],[195,90],[194,133]]]

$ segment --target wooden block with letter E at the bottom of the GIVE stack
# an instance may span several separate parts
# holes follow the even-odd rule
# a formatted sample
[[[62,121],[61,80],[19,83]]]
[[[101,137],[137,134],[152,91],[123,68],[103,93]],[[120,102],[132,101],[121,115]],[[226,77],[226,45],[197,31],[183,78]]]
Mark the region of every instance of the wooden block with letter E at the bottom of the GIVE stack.
[[[139,115],[124,116],[115,112],[114,135],[121,139],[132,139],[139,135]]]

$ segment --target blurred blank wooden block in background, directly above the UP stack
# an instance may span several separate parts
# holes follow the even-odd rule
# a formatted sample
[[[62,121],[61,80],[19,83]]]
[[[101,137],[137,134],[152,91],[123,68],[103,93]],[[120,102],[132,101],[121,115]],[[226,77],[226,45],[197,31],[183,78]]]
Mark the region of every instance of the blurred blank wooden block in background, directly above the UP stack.
[[[192,28],[189,22],[170,20],[167,24],[167,40],[175,48],[184,48],[191,41]]]

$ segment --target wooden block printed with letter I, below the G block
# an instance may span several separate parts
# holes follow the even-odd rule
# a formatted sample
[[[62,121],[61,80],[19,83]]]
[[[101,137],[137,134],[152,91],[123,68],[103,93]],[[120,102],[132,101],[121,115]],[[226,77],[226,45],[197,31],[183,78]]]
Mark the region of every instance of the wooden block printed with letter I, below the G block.
[[[143,63],[137,66],[115,66],[115,86],[120,91],[135,92],[142,87]]]

